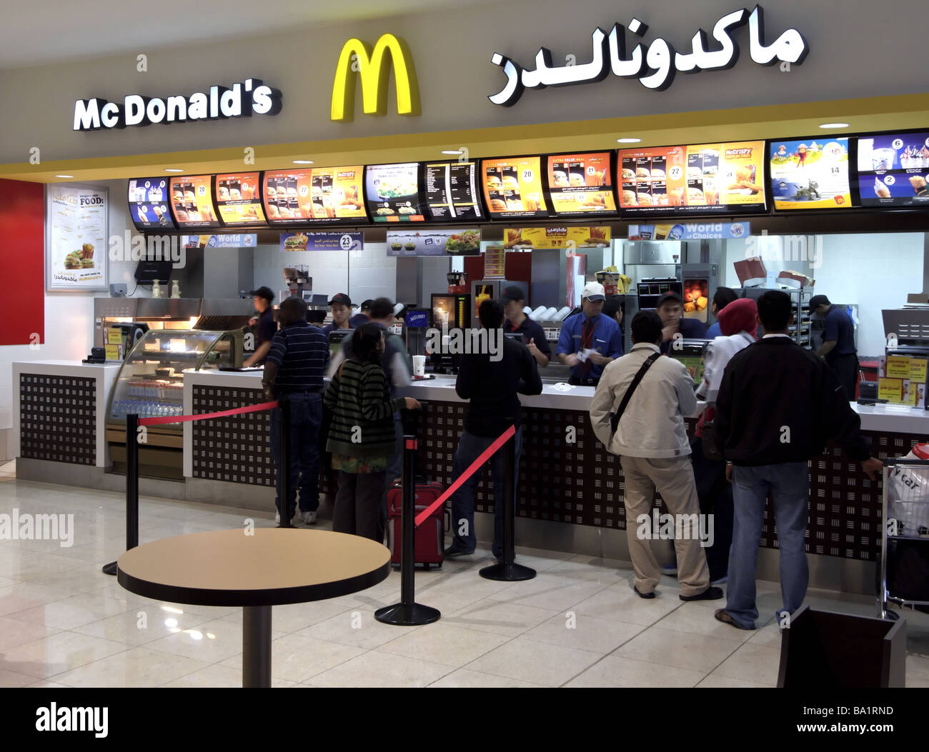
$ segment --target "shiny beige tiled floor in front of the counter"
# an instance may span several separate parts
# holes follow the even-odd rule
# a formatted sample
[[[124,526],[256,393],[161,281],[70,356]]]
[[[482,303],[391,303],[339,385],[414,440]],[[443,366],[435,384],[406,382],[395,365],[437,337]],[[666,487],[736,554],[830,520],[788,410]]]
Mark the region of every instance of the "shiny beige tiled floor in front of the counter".
[[[18,481],[0,467],[0,513],[72,513],[74,541],[0,540],[0,687],[235,687],[242,683],[242,612],[158,603],[121,588],[100,565],[124,546],[124,499]],[[142,542],[242,525],[256,513],[141,500]],[[628,562],[518,550],[539,574],[520,583],[478,576],[487,551],[416,576],[436,624],[396,628],[375,609],[399,601],[399,574],[370,590],[274,609],[273,683],[280,687],[760,687],[778,678],[780,634],[713,619],[724,602],[682,603],[674,579],[659,597],[631,590]],[[811,590],[811,605],[874,615],[873,599]],[[777,583],[759,582],[773,613]],[[929,616],[907,614],[908,686],[929,686]]]

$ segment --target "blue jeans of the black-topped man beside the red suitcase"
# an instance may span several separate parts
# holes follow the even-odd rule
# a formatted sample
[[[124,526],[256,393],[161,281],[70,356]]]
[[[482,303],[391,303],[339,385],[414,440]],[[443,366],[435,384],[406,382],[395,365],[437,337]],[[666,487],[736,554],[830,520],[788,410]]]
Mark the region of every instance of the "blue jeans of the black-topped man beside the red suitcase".
[[[462,437],[455,451],[452,462],[451,478],[458,479],[467,470],[481,452],[493,444],[496,437],[476,436],[462,431]],[[514,467],[513,492],[511,503],[516,510],[516,487],[519,478],[519,452],[522,450],[522,428],[517,428],[516,463]],[[505,445],[504,445],[505,447]],[[504,555],[504,447],[500,447],[491,457],[491,475],[493,476],[493,546],[494,556]],[[483,468],[475,472],[451,495],[451,529],[454,533],[452,546],[459,551],[473,552],[478,547],[478,537],[474,534],[474,489],[480,483]],[[459,535],[462,521],[466,523],[466,535]]]

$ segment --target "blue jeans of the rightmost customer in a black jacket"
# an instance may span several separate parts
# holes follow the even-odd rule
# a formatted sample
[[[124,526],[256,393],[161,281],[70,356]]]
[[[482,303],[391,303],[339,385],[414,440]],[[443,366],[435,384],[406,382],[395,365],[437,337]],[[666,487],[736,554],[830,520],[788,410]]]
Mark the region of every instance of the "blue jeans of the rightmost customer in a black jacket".
[[[726,612],[739,626],[754,629],[755,566],[768,491],[778,524],[780,592],[792,614],[804,603],[809,583],[805,535],[809,518],[809,469],[806,462],[733,468],[734,525],[729,550]]]

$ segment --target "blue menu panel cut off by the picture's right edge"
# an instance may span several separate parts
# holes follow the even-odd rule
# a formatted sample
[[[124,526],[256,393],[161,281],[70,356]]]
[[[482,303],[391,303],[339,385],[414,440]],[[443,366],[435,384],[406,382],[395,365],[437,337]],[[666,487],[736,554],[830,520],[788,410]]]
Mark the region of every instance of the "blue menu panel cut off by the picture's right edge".
[[[858,137],[862,206],[929,206],[929,133]]]

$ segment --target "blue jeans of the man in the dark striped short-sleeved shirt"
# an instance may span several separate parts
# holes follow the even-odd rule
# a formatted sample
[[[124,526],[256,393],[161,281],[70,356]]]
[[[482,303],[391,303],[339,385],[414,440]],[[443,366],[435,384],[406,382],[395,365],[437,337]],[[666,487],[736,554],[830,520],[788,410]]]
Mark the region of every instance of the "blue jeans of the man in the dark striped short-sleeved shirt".
[[[306,392],[281,395],[291,409],[290,473],[287,519],[294,516],[296,490],[300,489],[300,511],[316,512],[320,507],[320,423],[322,395]],[[281,408],[271,410],[271,456],[274,458],[274,503],[281,513]],[[283,514],[281,513],[281,517]]]

